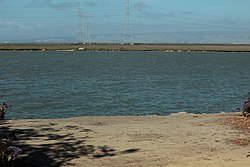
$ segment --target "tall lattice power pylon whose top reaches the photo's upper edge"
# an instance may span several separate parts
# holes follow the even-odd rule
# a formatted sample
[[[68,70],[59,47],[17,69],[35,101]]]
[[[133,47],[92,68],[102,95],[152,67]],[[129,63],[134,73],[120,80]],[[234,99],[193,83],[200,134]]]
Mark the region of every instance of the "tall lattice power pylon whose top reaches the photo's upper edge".
[[[134,44],[133,36],[132,36],[132,28],[131,28],[131,23],[130,23],[129,0],[126,0],[126,16],[125,16],[122,44],[130,44],[130,45]]]

